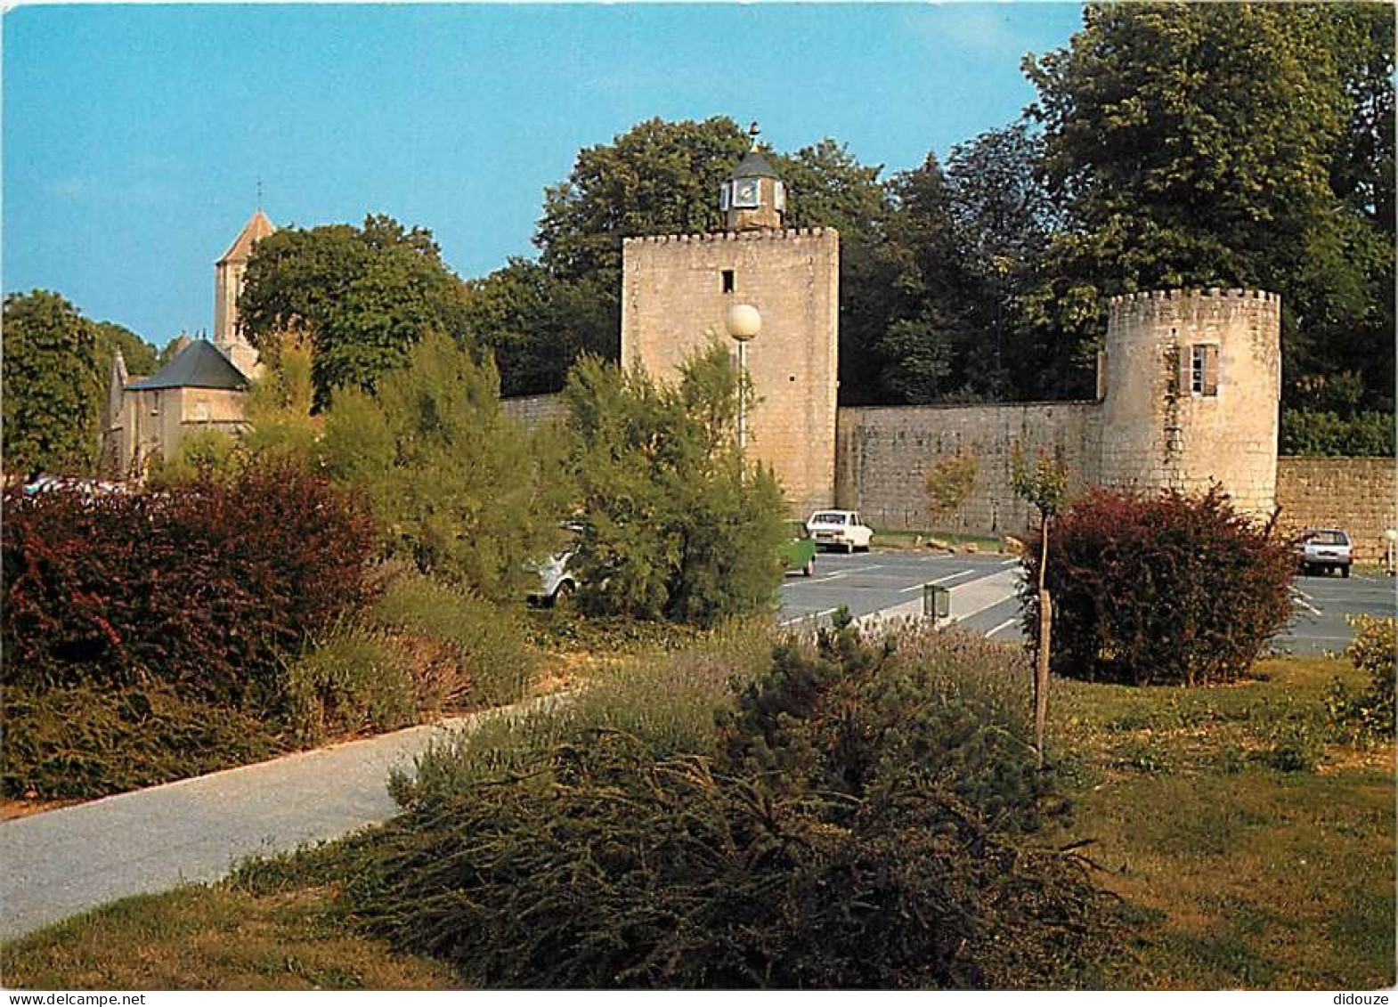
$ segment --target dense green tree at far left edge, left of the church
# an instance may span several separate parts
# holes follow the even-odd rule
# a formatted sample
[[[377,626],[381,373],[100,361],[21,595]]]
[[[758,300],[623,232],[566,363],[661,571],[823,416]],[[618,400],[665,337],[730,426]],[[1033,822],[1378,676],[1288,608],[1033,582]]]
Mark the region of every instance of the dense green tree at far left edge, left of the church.
[[[35,290],[4,299],[4,467],[87,473],[96,456],[92,368],[96,334],[63,297]]]

